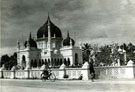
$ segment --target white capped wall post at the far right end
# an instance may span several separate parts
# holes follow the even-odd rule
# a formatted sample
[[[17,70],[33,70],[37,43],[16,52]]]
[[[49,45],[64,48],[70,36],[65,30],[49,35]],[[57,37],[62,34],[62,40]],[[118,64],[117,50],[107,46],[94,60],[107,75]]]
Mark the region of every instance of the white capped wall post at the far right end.
[[[134,78],[134,62],[129,60],[126,67],[126,78]]]

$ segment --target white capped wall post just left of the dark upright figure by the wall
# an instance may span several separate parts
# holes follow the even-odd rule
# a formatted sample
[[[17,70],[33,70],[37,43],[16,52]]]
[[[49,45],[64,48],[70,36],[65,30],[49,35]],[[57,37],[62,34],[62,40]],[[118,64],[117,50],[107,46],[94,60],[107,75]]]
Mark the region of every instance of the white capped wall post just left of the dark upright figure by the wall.
[[[88,62],[85,62],[82,66],[82,75],[83,75],[83,80],[89,80],[90,72],[89,72]]]

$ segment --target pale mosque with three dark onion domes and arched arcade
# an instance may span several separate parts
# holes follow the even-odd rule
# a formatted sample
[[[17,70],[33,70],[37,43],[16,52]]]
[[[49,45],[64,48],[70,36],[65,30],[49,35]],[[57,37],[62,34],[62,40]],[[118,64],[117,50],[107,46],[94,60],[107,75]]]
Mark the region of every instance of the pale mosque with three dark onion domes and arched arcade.
[[[75,46],[69,32],[63,39],[60,28],[50,20],[48,14],[47,21],[38,29],[35,39],[30,33],[25,42],[17,41],[17,62],[23,69],[36,69],[43,64],[50,67],[59,67],[63,63],[77,66],[83,63],[82,49]]]

